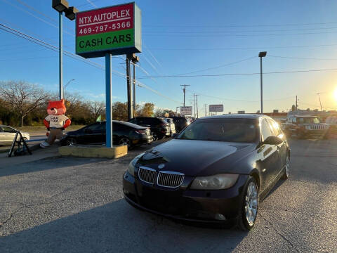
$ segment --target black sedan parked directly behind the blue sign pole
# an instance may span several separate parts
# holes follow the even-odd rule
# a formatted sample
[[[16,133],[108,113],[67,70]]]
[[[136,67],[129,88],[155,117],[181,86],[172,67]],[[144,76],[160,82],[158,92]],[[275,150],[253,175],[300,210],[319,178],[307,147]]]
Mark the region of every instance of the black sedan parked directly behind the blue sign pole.
[[[150,129],[136,124],[112,121],[112,143],[114,145],[136,145],[151,143]],[[105,143],[105,122],[95,122],[77,131],[69,131],[60,141],[61,145],[102,144]]]

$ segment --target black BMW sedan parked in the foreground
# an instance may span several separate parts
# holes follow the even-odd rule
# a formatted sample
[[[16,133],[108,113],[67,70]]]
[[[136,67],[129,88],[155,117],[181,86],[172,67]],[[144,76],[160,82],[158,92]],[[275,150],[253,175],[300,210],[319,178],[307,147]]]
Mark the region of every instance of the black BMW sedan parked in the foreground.
[[[288,178],[289,159],[286,137],[270,117],[205,117],[134,158],[123,177],[124,197],[174,219],[250,230],[260,200]]]

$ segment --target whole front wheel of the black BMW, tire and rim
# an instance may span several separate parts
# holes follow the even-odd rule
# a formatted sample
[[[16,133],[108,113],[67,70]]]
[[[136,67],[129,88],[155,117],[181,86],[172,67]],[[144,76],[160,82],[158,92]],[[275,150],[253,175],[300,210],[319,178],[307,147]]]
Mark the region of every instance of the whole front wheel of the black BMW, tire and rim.
[[[255,225],[256,217],[258,216],[259,202],[258,185],[253,176],[249,176],[242,196],[242,206],[239,210],[237,227],[243,231],[250,231]]]

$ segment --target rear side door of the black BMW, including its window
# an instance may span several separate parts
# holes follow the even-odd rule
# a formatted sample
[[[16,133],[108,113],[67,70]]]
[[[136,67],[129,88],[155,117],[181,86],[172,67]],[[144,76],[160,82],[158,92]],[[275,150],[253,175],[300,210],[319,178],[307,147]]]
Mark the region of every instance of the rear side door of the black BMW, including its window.
[[[270,129],[272,130],[272,134],[274,136],[277,136],[282,140],[282,143],[277,145],[277,151],[279,153],[279,167],[275,171],[275,176],[279,175],[279,173],[282,172],[282,169],[284,168],[284,165],[286,164],[286,156],[288,155],[288,150],[286,148],[286,136],[282,133],[279,124],[275,122],[274,119],[267,119],[267,121],[270,124]]]

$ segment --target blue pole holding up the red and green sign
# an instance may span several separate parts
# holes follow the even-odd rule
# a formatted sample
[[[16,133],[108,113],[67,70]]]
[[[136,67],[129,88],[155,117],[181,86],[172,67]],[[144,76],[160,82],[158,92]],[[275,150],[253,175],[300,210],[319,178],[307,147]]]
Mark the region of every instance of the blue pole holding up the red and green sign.
[[[105,54],[105,145],[112,148],[112,83],[111,83],[111,54]]]

